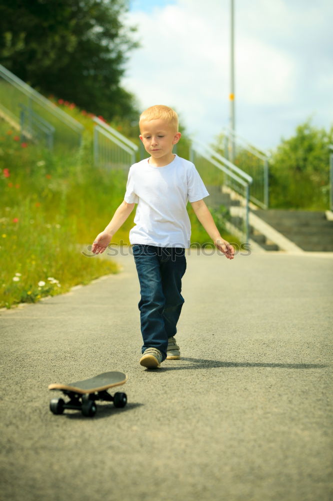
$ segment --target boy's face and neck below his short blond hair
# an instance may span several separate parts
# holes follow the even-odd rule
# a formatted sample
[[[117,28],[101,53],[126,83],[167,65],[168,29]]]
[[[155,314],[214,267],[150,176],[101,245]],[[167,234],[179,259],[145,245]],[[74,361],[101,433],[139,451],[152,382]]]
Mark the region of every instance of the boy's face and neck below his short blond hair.
[[[172,147],[179,141],[180,136],[180,132],[176,132],[161,118],[140,122],[139,137],[145,151],[151,155],[149,163],[152,165],[162,167],[172,162]]]

